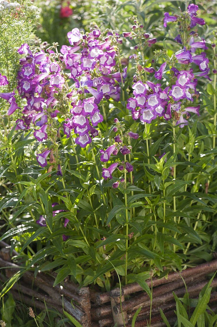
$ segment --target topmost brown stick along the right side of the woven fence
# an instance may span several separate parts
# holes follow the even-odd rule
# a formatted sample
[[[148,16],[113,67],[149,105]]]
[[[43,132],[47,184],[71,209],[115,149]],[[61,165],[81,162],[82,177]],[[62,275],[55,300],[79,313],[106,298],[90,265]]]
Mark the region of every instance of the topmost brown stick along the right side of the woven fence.
[[[193,268],[187,268],[185,270],[182,270],[181,272],[172,272],[168,275],[168,278],[166,279],[164,278],[153,278],[152,282],[153,282],[153,287],[158,286],[158,285],[162,285],[162,284],[166,284],[166,283],[170,283],[170,282],[174,282],[178,279],[180,279],[180,274],[183,278],[186,278],[188,276],[194,275],[196,276],[197,274],[203,274],[206,275],[209,272],[213,272],[217,270],[217,260],[213,260],[201,265],[198,265],[196,267]],[[148,280],[147,281],[148,286],[151,286],[151,281]],[[136,293],[139,291],[142,291],[142,287],[137,284],[137,283],[132,283],[132,284],[128,284],[123,286],[123,294],[124,295],[128,295],[128,294],[132,294],[132,293]],[[103,294],[98,294],[97,295],[97,304],[101,305],[103,303],[109,302],[109,292],[103,293]]]

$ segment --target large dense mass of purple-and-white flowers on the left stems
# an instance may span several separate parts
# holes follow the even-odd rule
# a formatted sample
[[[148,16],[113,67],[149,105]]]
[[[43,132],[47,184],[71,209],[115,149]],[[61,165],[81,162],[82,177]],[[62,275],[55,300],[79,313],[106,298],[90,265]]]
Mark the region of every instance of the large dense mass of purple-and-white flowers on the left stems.
[[[51,109],[56,106],[63,88],[68,90],[64,101],[70,99],[72,106],[70,112],[65,112],[63,131],[67,138],[72,130],[78,134],[75,143],[81,147],[91,143],[91,137],[98,135],[96,127],[103,121],[98,104],[103,95],[106,99],[119,100],[119,82],[125,77],[126,68],[122,73],[117,70],[116,47],[111,39],[114,35],[108,33],[103,41],[99,40],[100,35],[99,29],[86,34],[78,28],[72,29],[68,33],[71,46],[63,45],[59,57],[50,48],[47,49],[48,54],[40,51],[33,55],[26,43],[18,49],[18,53],[26,55],[20,60],[18,73],[18,90],[27,100],[22,118],[26,125],[32,121],[39,127],[34,132],[39,142],[48,138],[48,115],[49,118],[56,117],[58,110]],[[119,40],[119,36],[115,38]],[[70,73],[66,74],[66,70]],[[68,78],[74,81],[71,91]],[[20,128],[23,128],[22,122],[19,123]],[[42,166],[46,164],[48,154],[46,151],[41,154],[44,158],[40,159]]]

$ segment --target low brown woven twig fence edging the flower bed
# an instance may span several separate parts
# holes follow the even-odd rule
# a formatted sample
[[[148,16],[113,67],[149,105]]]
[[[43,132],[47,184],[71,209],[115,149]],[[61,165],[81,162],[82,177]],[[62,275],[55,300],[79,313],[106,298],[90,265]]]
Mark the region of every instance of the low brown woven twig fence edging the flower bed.
[[[5,282],[15,272],[22,271],[22,267],[11,262],[10,247],[5,242],[0,242],[0,280]],[[13,251],[12,255],[17,255]],[[207,283],[207,275],[217,270],[217,260],[188,268],[182,272],[172,272],[168,278],[153,278],[153,300],[152,300],[152,327],[163,327],[164,323],[160,316],[160,308],[163,310],[168,321],[173,324],[176,321],[174,309],[176,303],[172,291],[178,297],[183,297],[187,285],[190,298],[198,296],[203,286]],[[3,273],[4,271],[4,273]],[[18,283],[11,288],[13,297],[21,300],[28,306],[36,309],[44,309],[44,301],[50,308],[56,309],[61,314],[64,310],[76,318],[83,327],[112,327],[123,326],[123,318],[120,309],[120,289],[115,288],[111,292],[100,293],[89,289],[89,287],[78,288],[67,279],[63,285],[53,287],[54,274],[38,273],[34,277],[31,271],[25,271]],[[151,281],[147,280],[148,286]],[[217,287],[217,278],[212,282]],[[213,291],[209,306],[216,310],[217,292]],[[122,287],[122,311],[126,327],[131,326],[132,318],[136,310],[141,311],[136,319],[135,327],[147,326],[150,313],[150,299],[147,293],[137,283]]]

